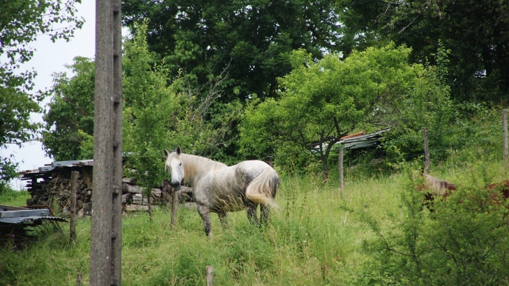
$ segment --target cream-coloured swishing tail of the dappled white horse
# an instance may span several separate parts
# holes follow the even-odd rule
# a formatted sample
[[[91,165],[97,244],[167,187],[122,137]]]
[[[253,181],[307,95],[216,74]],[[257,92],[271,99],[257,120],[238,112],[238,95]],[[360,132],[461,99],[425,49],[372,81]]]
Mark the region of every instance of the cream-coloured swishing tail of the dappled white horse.
[[[273,168],[268,167],[249,183],[245,190],[245,197],[258,204],[278,206],[274,202],[278,185],[278,174]]]

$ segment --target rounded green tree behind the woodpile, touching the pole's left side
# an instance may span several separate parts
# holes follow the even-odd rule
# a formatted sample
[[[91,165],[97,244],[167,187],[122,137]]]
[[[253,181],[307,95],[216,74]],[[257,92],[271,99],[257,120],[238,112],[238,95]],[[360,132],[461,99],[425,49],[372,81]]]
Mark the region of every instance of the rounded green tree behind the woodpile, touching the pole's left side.
[[[66,66],[73,76],[55,74],[54,84],[46,92],[52,101],[43,117],[43,147],[55,160],[92,158],[91,149],[82,145],[93,136],[94,66],[91,59],[75,57],[74,63]]]

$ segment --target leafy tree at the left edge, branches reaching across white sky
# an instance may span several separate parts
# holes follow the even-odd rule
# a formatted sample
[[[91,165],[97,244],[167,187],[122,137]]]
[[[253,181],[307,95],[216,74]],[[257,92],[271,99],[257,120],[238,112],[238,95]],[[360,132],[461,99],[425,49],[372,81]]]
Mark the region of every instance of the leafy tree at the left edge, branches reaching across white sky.
[[[12,0],[0,3],[0,148],[33,140],[38,124],[29,121],[30,112],[40,112],[43,96],[29,93],[36,71],[19,70],[33,56],[28,46],[38,34],[52,40],[73,36],[83,20],[75,17],[79,0]],[[53,24],[68,25],[53,29]],[[16,163],[0,158],[0,183],[15,176]]]

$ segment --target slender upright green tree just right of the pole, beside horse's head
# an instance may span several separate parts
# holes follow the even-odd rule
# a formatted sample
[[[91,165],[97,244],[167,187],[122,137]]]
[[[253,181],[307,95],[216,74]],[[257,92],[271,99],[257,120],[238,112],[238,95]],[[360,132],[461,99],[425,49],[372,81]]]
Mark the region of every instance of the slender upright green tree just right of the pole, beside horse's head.
[[[124,168],[150,192],[153,184],[162,182],[162,149],[183,116],[182,99],[167,86],[167,70],[155,63],[145,33],[125,43],[123,65],[123,150],[128,154]]]

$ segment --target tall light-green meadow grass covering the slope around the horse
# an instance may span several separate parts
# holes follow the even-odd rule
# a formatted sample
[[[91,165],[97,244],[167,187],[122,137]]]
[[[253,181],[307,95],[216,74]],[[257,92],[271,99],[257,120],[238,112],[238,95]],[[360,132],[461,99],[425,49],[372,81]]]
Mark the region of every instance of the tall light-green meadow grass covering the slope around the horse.
[[[485,168],[493,181],[506,174],[500,163]],[[437,168],[435,174],[459,184],[468,167]],[[214,267],[216,285],[349,285],[367,257],[360,246],[374,234],[347,209],[367,211],[381,220],[398,213],[401,174],[348,176],[344,200],[337,182],[317,177],[282,181],[271,224],[263,231],[248,224],[245,212],[230,213],[230,229],[213,214],[213,239],[206,239],[197,211],[181,208],[178,226],[155,211],[123,218],[123,285],[204,285],[205,267]],[[6,203],[0,197],[0,204]],[[388,221],[388,220],[387,220]],[[63,234],[47,236],[21,252],[0,249],[0,285],[75,285],[81,273],[88,284],[90,218],[77,223],[78,243]]]

